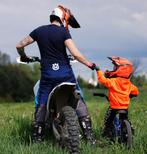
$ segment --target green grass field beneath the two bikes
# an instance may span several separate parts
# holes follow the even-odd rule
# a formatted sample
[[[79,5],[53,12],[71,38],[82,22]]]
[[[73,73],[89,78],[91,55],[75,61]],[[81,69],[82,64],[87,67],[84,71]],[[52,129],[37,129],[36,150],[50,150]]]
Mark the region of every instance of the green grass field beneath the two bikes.
[[[92,117],[94,133],[100,144],[92,147],[81,142],[81,154],[147,154],[147,89],[140,90],[138,98],[131,101],[129,117],[135,128],[131,150],[101,137],[103,118],[108,107],[105,99],[94,98],[85,92],[85,98]],[[33,102],[0,103],[0,154],[62,154],[53,136],[38,145],[31,142]]]

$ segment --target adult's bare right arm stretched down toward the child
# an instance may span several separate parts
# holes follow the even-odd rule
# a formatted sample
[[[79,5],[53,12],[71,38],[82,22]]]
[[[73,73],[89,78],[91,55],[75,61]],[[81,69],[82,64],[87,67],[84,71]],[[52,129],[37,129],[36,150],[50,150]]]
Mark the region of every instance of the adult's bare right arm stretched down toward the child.
[[[74,56],[75,59],[77,59],[79,62],[83,63],[84,65],[88,66],[89,68],[91,68],[91,66],[93,65],[93,63],[91,63],[90,61],[88,61],[80,53],[80,51],[77,49],[77,47],[75,46],[75,44],[72,41],[72,39],[65,40],[65,45],[68,48],[69,52],[72,54],[72,56]]]

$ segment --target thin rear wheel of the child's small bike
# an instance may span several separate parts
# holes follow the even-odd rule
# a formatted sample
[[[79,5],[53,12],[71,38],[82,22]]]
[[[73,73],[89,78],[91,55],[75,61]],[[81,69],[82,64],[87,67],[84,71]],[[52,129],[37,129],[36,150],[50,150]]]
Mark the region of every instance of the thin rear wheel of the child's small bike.
[[[128,148],[131,148],[133,142],[131,125],[127,120],[123,120],[121,127],[121,143],[124,143]]]

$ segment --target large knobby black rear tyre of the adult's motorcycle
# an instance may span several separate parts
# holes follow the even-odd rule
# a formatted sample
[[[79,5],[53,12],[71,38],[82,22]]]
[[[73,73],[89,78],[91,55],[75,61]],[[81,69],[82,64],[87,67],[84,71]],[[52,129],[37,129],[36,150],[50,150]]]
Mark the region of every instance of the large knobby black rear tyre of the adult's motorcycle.
[[[60,121],[58,126],[60,146],[67,148],[70,154],[78,154],[80,151],[80,132],[75,110],[70,106],[63,107],[58,119]]]

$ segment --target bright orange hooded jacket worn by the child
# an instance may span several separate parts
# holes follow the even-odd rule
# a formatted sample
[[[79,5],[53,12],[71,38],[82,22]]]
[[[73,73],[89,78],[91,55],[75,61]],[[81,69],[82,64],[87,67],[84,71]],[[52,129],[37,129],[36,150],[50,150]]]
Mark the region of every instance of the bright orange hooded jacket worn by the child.
[[[105,78],[101,70],[97,71],[98,81],[108,88],[108,98],[112,109],[128,109],[129,95],[138,95],[138,88],[126,78]]]

